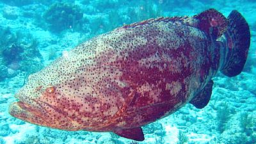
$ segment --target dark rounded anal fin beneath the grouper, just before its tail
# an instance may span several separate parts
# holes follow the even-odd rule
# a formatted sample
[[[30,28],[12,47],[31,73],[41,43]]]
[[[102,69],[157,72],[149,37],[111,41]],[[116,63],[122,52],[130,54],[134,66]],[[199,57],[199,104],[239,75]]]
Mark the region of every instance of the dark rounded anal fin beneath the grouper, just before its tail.
[[[202,89],[189,103],[193,104],[196,108],[204,108],[211,99],[213,82],[210,80],[204,89]]]

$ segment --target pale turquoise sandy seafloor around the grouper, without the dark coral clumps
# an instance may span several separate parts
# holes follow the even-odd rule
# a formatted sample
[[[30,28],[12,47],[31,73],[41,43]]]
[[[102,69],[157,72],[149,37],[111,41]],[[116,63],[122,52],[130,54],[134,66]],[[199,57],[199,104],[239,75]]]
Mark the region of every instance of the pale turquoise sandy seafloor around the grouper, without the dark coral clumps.
[[[112,22],[131,22],[127,8],[143,11],[143,1],[69,1],[80,6],[83,12],[83,30],[69,27],[53,32],[42,15],[52,3],[58,1],[0,1],[0,27],[11,31],[30,32],[38,41],[38,50],[44,66],[54,61],[65,50],[75,47],[83,40],[118,26]],[[63,1],[65,2],[65,1]],[[149,1],[153,8],[159,8],[161,15],[195,15],[208,8],[216,8],[226,17],[231,10],[240,11],[251,29],[251,46],[246,68],[241,75],[228,78],[218,73],[214,80],[211,101],[202,110],[186,104],[179,111],[164,119],[143,127],[145,141],[138,143],[256,143],[256,1]],[[108,12],[115,11],[119,19],[109,19]],[[104,24],[93,28],[92,20],[100,17]],[[145,16],[146,17],[146,16]],[[150,17],[147,16],[147,17]],[[129,21],[130,20],[130,21]],[[138,18],[137,20],[140,20]],[[45,24],[44,24],[45,23]],[[44,25],[44,26],[42,26]],[[105,24],[106,25],[106,24]],[[119,24],[122,25],[122,24]],[[52,55],[54,52],[54,55]],[[49,58],[51,56],[51,59]],[[52,58],[53,57],[53,58]],[[8,68],[8,67],[7,67]],[[0,143],[131,143],[111,133],[87,131],[60,131],[35,126],[11,117],[8,105],[15,100],[13,94],[24,82],[26,71],[8,68],[9,78],[0,82]],[[3,74],[1,74],[3,75]],[[246,117],[246,115],[248,117]],[[181,134],[181,135],[179,135]],[[182,140],[182,138],[188,140]]]

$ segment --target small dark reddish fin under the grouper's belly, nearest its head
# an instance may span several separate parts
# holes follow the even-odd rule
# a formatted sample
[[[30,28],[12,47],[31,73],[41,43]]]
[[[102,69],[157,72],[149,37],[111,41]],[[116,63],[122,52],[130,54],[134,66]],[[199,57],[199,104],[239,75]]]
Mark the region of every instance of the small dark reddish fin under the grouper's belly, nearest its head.
[[[141,127],[136,127],[133,129],[120,129],[118,131],[113,131],[113,133],[117,134],[118,136],[136,141],[143,141],[145,139]]]

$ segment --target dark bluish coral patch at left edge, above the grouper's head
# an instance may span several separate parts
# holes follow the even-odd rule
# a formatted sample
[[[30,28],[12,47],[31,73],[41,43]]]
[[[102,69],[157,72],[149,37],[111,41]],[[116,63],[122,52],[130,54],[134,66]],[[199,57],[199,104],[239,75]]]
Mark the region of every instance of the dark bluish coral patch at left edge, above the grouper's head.
[[[37,48],[38,43],[31,34],[12,32],[8,27],[0,27],[0,31],[0,80],[17,75],[17,70],[35,73],[42,68],[42,55]]]

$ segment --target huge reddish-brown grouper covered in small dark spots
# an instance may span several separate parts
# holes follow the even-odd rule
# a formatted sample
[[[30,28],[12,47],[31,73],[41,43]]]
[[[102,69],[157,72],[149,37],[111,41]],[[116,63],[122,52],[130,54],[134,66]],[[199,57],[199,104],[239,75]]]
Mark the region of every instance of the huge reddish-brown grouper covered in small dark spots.
[[[10,114],[67,131],[112,131],[143,141],[141,126],[191,103],[204,108],[217,71],[241,73],[250,30],[236,10],[154,18],[102,34],[30,75]]]

